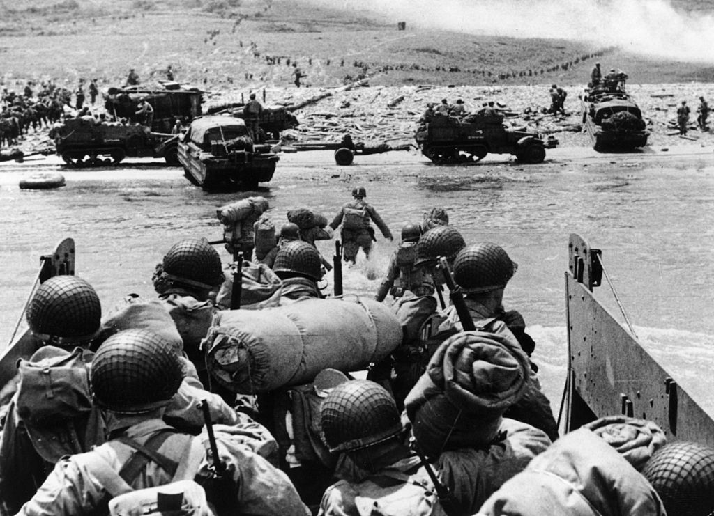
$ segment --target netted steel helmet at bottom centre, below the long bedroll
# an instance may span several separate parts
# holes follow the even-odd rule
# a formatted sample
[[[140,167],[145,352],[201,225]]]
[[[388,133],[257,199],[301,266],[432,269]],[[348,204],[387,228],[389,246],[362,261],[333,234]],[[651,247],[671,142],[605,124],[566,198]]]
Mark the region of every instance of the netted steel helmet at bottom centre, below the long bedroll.
[[[402,430],[394,398],[369,380],[334,388],[322,402],[320,416],[323,440],[331,452],[366,448]]]

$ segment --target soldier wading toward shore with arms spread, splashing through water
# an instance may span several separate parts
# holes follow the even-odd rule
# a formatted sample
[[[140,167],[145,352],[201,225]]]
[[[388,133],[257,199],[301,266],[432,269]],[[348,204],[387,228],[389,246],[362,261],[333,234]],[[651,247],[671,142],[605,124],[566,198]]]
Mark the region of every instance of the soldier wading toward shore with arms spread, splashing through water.
[[[386,239],[390,242],[393,237],[389,228],[379,216],[377,210],[365,202],[367,190],[364,187],[355,187],[352,190],[354,200],[347,202],[341,207],[340,212],[335,216],[330,223],[330,227],[337,229],[342,225],[342,257],[349,264],[354,265],[357,259],[357,253],[362,248],[364,254],[369,258],[369,252],[372,249],[372,241],[376,242],[374,237],[374,228],[370,225],[372,220]]]

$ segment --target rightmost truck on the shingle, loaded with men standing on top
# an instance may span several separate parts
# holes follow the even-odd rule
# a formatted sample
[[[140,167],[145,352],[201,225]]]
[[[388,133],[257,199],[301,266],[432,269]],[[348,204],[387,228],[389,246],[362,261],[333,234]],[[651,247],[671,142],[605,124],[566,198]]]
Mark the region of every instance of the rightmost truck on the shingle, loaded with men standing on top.
[[[605,77],[581,97],[583,124],[595,150],[633,149],[647,145],[642,111],[625,91],[625,73]]]

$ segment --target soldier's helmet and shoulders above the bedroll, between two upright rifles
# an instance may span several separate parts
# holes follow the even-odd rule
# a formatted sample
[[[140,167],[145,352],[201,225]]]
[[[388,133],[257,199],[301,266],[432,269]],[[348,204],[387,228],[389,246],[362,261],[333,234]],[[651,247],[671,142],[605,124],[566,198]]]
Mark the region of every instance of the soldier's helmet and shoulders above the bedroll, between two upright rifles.
[[[275,257],[273,272],[283,280],[281,304],[323,297],[317,286],[323,275],[320,253],[307,242],[286,242]]]

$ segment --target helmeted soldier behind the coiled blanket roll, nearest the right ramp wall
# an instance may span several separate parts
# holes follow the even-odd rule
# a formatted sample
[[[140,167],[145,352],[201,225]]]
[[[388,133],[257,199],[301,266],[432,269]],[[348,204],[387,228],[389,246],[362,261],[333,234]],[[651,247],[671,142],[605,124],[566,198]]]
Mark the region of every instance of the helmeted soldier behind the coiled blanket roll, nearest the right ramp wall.
[[[512,334],[521,349],[531,356],[535,342],[526,333],[526,323],[518,311],[503,308],[503,292],[506,284],[518,269],[508,253],[491,242],[473,244],[462,249],[453,261],[453,280],[461,287],[466,307],[477,328],[491,333]],[[446,321],[439,331],[463,331],[455,306],[445,313]],[[550,410],[550,402],[540,390],[536,376],[538,368],[531,363],[531,378],[526,394],[511,407],[507,417],[540,428],[552,440],[558,438],[558,425]]]

